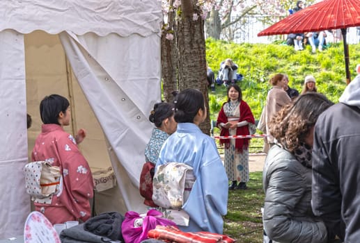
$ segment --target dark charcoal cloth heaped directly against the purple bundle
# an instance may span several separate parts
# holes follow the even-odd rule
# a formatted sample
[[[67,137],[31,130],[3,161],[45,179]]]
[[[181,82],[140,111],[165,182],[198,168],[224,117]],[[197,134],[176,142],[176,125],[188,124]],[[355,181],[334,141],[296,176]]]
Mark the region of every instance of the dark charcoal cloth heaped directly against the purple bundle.
[[[125,217],[118,212],[103,212],[92,217],[84,224],[84,230],[95,235],[106,236],[111,240],[123,241],[121,235],[121,224]]]

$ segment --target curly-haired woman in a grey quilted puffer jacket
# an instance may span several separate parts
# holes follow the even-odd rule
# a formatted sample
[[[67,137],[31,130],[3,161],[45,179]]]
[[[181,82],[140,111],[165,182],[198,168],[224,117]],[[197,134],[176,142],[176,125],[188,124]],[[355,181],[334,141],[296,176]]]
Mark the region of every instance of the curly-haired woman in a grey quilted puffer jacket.
[[[270,121],[276,140],[263,169],[263,225],[272,242],[327,242],[327,228],[311,210],[311,147],[315,122],[331,105],[323,94],[304,94]]]

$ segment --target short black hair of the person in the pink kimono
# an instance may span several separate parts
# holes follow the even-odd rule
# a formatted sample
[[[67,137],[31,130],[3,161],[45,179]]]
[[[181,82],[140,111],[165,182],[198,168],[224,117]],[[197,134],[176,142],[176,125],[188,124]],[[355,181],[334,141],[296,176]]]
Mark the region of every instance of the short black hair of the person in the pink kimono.
[[[60,112],[66,113],[70,106],[68,99],[58,94],[52,94],[45,97],[40,102],[40,117],[44,124],[58,124],[58,115]]]

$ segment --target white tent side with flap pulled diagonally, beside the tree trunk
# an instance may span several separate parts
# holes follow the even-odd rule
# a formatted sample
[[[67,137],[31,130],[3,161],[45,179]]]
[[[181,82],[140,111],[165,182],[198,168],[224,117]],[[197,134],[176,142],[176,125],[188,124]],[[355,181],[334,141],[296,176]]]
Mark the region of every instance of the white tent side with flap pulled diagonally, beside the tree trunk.
[[[141,43],[142,37],[137,35],[125,39],[115,34],[106,37],[86,34],[78,37],[61,33],[60,37],[75,76],[109,141],[109,153],[115,155],[111,156],[111,164],[118,171],[116,178],[120,190],[129,196],[124,198],[125,205],[139,210],[136,202],[141,201],[137,188],[144,162],[143,149],[152,128],[148,114],[155,103],[154,98],[159,101],[161,95],[159,50],[149,50],[148,46]],[[156,35],[148,38],[152,38],[152,44],[158,44]],[[107,48],[109,46],[112,48]],[[157,57],[157,61],[141,58],[140,63],[131,62],[132,58],[141,57],[143,53],[152,58]],[[111,58],[107,58],[109,56]],[[119,65],[122,62],[125,63]],[[127,174],[120,172],[124,168],[118,165],[119,161]],[[135,194],[131,193],[133,190],[136,190]]]

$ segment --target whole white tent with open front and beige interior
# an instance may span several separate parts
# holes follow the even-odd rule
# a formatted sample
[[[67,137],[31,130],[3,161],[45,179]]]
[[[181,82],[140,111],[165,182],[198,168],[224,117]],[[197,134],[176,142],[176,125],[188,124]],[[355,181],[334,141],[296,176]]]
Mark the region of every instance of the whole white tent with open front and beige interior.
[[[139,174],[161,96],[161,1],[1,0],[0,16],[0,238],[22,234],[30,212],[22,167],[40,133],[40,100],[54,93],[70,100],[68,131],[86,129],[80,148],[91,167],[114,168],[118,187],[95,195],[97,211],[144,210]]]

